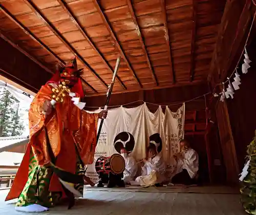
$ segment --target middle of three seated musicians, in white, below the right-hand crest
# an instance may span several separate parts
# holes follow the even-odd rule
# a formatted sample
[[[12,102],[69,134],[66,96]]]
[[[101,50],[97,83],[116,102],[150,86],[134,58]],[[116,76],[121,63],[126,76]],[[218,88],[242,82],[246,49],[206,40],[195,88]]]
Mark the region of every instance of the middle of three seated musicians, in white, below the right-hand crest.
[[[131,185],[153,186],[160,185],[165,180],[165,162],[161,155],[157,154],[156,146],[147,148],[148,159],[143,158],[141,163],[142,173]]]

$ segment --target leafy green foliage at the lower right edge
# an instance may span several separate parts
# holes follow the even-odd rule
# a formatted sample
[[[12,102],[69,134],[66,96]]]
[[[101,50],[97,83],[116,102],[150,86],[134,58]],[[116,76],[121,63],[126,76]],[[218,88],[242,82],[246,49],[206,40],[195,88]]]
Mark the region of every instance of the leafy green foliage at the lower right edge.
[[[248,175],[243,181],[243,187],[240,189],[240,192],[245,211],[249,214],[256,215],[256,131],[255,137],[247,148],[247,159],[251,158],[251,160]]]

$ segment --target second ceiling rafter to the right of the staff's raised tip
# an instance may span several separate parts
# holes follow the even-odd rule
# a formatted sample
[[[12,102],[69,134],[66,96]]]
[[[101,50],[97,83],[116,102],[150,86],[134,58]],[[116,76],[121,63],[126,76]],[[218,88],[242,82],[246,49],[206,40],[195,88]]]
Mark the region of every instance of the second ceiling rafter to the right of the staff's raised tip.
[[[138,20],[137,20],[137,17],[135,15],[135,12],[134,12],[134,9],[133,9],[133,4],[132,4],[131,0],[127,0],[127,5],[128,5],[129,10],[130,10],[130,13],[132,15],[133,22],[136,25],[136,30],[138,32],[138,36],[139,36],[139,39],[140,39],[140,44],[141,44],[143,53],[144,53],[144,55],[146,57],[147,65],[150,68],[150,71],[152,73],[152,77],[153,77],[156,85],[158,86],[157,76],[156,76],[156,73],[155,73],[154,69],[152,68],[152,65],[151,65],[151,62],[150,62],[150,58],[148,58],[148,54],[147,54],[146,47],[145,47],[145,42],[144,42],[143,37],[141,35],[140,27],[138,25]]]

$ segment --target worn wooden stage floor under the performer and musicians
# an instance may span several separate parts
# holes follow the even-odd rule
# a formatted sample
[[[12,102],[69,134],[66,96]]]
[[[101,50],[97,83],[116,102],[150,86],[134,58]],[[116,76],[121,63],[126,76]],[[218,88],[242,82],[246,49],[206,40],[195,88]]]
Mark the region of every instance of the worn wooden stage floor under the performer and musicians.
[[[6,204],[8,190],[0,191],[0,214],[31,214],[14,210]],[[181,192],[122,192],[86,190],[84,199],[79,199],[73,209],[66,206],[51,208],[41,214],[94,214],[94,215],[242,215],[240,195],[216,193]]]

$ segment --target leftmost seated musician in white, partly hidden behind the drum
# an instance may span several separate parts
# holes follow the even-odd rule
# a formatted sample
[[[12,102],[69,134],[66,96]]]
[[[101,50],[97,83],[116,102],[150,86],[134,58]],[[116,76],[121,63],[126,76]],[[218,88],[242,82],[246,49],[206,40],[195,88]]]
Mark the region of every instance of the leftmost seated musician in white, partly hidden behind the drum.
[[[127,154],[127,151],[124,147],[120,150],[121,156],[125,161],[125,169],[123,172],[123,181],[125,184],[129,184],[135,179],[137,173],[137,163],[133,156]]]

